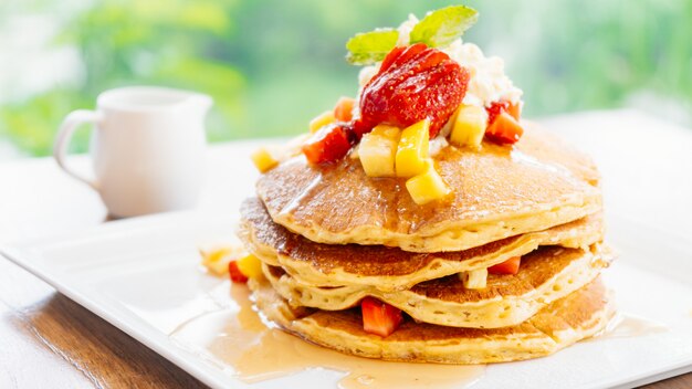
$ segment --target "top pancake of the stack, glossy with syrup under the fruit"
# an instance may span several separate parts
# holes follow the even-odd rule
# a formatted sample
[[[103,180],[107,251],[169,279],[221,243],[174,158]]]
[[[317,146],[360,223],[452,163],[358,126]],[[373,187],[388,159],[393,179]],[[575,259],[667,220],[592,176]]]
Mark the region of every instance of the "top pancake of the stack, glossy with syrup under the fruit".
[[[541,231],[601,208],[593,161],[536,125],[514,147],[447,147],[437,170],[452,189],[416,204],[403,179],[369,178],[357,159],[311,166],[294,157],[256,185],[272,219],[319,243],[382,244],[413,252],[461,251]]]

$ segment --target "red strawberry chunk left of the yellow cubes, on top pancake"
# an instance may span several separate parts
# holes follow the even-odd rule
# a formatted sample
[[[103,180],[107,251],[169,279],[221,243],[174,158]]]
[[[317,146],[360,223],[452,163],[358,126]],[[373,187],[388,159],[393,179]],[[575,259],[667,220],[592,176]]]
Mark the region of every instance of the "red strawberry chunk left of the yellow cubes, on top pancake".
[[[311,164],[333,162],[348,154],[354,141],[350,124],[333,123],[318,129],[303,144],[303,154]]]

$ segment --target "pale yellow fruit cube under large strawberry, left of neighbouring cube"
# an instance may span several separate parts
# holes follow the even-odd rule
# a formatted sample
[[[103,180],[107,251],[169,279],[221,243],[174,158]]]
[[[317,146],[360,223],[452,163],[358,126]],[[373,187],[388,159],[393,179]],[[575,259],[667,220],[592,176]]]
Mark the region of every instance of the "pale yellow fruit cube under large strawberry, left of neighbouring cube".
[[[368,177],[394,177],[395,159],[401,130],[394,126],[379,125],[363,136],[358,146],[358,158]]]

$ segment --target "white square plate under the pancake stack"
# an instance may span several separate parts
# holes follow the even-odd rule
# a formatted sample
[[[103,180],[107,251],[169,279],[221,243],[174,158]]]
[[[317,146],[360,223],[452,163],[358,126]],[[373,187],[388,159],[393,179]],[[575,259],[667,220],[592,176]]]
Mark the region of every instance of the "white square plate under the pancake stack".
[[[692,371],[692,244],[631,222],[610,220],[609,225],[609,241],[621,255],[604,276],[620,312],[667,329],[492,365],[473,388],[632,387]],[[21,242],[2,254],[201,381],[245,387],[231,366],[181,347],[170,336],[191,318],[231,306],[230,294],[219,293],[228,291],[228,282],[201,271],[197,248],[232,233],[231,220],[171,213]],[[335,387],[344,375],[312,369],[251,387]]]

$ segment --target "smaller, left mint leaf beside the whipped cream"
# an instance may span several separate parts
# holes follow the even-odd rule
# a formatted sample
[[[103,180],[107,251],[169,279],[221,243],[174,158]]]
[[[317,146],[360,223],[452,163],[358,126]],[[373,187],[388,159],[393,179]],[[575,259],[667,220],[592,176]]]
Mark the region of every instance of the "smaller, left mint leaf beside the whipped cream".
[[[385,59],[397,45],[397,30],[375,30],[356,34],[346,42],[346,60],[355,65],[369,65]]]

